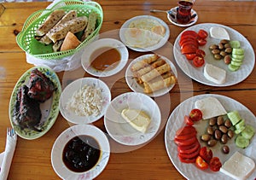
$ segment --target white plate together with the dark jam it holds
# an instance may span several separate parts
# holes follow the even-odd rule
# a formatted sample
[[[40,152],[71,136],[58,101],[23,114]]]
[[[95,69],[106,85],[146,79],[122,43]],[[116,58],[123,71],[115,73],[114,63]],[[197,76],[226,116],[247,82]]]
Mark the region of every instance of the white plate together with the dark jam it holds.
[[[94,125],[73,125],[57,137],[51,163],[62,179],[97,177],[108,164],[108,137]]]

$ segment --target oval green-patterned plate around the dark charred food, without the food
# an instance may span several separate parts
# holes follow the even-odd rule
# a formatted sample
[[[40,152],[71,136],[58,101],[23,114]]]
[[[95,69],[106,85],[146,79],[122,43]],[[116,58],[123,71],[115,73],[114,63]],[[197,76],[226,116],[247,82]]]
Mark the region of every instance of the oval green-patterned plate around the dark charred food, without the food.
[[[35,68],[38,68],[38,70],[40,72],[44,73],[44,75],[46,75],[55,85],[55,91],[54,91],[53,95],[49,98],[49,100],[40,104],[42,118],[40,120],[38,128],[43,130],[41,132],[33,131],[30,129],[21,129],[19,125],[15,125],[14,116],[13,116],[17,92],[23,84],[28,84],[29,79],[30,79],[30,74],[31,74],[32,70]],[[52,125],[55,124],[55,119],[57,119],[58,114],[60,112],[60,109],[59,109],[60,96],[61,96],[60,79],[58,78],[57,74],[52,69],[50,69],[49,67],[44,67],[44,66],[37,66],[37,67],[32,67],[31,69],[27,70],[26,73],[24,73],[20,77],[18,82],[15,84],[15,88],[12,92],[12,95],[10,97],[10,102],[9,102],[9,119],[10,119],[10,123],[14,127],[16,133],[24,139],[32,140],[32,139],[37,139],[38,137],[41,137],[46,132],[48,132],[49,129],[52,127]]]

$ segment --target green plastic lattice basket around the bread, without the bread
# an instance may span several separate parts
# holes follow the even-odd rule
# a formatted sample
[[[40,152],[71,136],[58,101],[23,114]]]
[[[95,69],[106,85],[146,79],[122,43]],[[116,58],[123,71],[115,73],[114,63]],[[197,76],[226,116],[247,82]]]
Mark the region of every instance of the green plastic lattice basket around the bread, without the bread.
[[[89,16],[90,12],[96,12],[98,18],[96,20],[96,30],[90,34],[76,49],[70,49],[66,51],[54,52],[52,44],[44,45],[38,42],[34,38],[38,26],[40,26],[44,20],[51,14],[55,9],[64,9],[66,12],[70,10],[76,10],[78,16]],[[103,12],[100,4],[96,2],[83,2],[79,0],[64,0],[56,3],[51,9],[42,9],[34,12],[30,15],[24,23],[22,31],[16,38],[17,44],[21,49],[26,51],[29,55],[37,57],[43,60],[58,60],[63,57],[73,55],[82,49],[87,44],[90,44],[94,38],[98,35],[103,21]]]

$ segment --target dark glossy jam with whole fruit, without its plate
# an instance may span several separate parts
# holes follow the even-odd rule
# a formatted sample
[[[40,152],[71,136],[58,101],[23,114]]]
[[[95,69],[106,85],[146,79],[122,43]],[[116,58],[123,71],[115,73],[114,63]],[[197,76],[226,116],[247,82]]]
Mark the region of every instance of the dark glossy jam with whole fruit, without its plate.
[[[69,170],[84,172],[97,164],[101,154],[101,147],[94,137],[79,135],[67,142],[63,148],[62,160]]]

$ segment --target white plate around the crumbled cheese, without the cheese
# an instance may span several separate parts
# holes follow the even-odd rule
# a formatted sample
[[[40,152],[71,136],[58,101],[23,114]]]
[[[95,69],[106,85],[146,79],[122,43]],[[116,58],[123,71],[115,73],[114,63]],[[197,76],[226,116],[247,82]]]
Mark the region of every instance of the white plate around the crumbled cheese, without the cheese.
[[[71,97],[73,96],[73,93],[77,90],[80,90],[85,84],[102,89],[103,107],[102,107],[101,113],[99,113],[97,116],[90,115],[85,117],[85,116],[79,116],[73,112],[67,111],[67,108],[66,108],[67,102],[71,99]],[[110,90],[108,88],[108,85],[105,84],[102,80],[98,78],[79,78],[73,81],[71,84],[68,84],[67,87],[61,93],[60,110],[61,110],[62,116],[71,123],[90,124],[102,118],[102,116],[106,112],[106,109],[110,101],[111,101]]]

